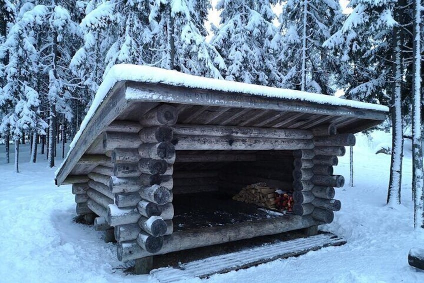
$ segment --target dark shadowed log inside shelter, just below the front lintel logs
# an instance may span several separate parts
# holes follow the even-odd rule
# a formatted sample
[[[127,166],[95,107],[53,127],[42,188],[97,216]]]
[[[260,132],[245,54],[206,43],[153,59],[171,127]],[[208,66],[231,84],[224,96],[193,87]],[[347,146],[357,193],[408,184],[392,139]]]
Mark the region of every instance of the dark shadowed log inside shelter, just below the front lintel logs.
[[[256,161],[255,154],[215,154],[215,153],[200,153],[200,154],[184,154],[178,153],[175,159],[177,163],[187,162],[237,162],[237,161]]]

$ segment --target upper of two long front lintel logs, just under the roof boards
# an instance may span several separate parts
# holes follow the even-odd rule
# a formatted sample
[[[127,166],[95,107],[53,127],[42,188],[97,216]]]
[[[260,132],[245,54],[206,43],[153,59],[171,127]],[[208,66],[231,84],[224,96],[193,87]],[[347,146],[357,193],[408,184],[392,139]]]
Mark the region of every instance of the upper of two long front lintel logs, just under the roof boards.
[[[250,137],[276,139],[311,139],[309,130],[277,129],[258,127],[215,126],[215,125],[185,125],[172,126],[174,135],[180,136],[215,136],[215,137]]]

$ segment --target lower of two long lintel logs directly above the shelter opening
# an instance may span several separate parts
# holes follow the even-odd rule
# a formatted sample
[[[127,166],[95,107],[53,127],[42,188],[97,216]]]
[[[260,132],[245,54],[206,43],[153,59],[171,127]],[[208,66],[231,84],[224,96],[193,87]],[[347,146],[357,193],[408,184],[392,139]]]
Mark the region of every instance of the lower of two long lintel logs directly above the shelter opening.
[[[176,150],[295,150],[313,148],[312,141],[306,139],[175,135],[172,142]]]

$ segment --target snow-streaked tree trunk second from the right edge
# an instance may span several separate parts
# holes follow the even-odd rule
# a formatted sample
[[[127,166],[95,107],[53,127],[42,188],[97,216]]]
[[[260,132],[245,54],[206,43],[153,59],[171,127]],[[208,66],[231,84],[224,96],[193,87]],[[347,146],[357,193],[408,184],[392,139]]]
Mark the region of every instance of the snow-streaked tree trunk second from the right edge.
[[[402,9],[404,0],[398,1],[394,9],[394,17],[398,23],[403,20]],[[402,156],[403,156],[403,129],[401,113],[401,81],[402,81],[402,26],[393,27],[393,55],[392,73],[394,77],[391,94],[391,122],[392,122],[392,151],[390,160],[390,180],[387,190],[387,204],[400,204],[400,190],[402,183]]]

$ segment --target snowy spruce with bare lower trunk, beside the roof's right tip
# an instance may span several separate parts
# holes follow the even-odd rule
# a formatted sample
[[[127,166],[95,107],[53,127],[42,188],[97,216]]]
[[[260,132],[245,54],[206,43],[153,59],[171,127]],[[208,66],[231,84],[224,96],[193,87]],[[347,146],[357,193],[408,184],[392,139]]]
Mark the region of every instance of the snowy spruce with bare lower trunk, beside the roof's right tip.
[[[340,58],[339,84],[348,99],[390,106],[393,124],[387,204],[400,203],[402,168],[402,74],[407,0],[352,0],[341,29],[324,46]]]

